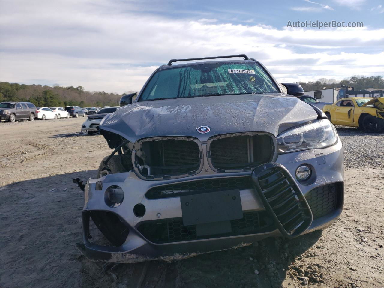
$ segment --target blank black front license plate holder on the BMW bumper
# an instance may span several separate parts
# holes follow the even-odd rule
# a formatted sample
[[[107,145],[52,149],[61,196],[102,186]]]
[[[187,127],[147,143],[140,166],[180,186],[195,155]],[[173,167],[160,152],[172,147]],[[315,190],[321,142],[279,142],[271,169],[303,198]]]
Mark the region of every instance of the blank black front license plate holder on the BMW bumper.
[[[243,218],[238,189],[182,196],[180,202],[185,226]]]

